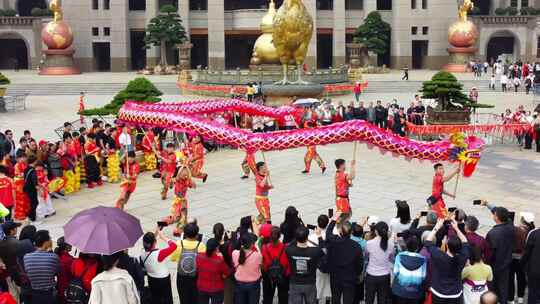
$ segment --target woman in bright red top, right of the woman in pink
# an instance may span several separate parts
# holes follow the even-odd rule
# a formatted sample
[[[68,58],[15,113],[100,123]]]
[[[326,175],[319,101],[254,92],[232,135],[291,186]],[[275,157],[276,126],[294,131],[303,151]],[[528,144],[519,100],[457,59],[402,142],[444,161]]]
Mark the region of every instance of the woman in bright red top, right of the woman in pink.
[[[279,304],[288,303],[291,268],[285,254],[286,246],[279,240],[280,237],[279,227],[272,227],[270,237],[263,236],[263,304],[272,304],[276,287]]]

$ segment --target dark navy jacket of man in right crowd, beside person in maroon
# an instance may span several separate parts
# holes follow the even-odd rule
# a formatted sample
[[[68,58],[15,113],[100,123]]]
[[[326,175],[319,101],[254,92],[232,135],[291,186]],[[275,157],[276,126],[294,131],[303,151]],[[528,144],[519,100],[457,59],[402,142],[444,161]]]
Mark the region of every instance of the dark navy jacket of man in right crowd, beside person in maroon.
[[[504,223],[493,226],[486,236],[486,240],[491,248],[491,261],[489,265],[493,272],[509,269],[512,263],[512,251],[514,250],[514,239],[516,233],[513,223]]]

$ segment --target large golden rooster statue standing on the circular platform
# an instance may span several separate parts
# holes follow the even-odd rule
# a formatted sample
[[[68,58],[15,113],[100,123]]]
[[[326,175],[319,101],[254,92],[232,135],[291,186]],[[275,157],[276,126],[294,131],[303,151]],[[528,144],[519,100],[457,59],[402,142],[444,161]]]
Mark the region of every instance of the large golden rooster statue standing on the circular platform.
[[[307,84],[302,80],[302,64],[313,35],[313,18],[302,0],[285,0],[274,16],[273,44],[283,66],[283,79],[276,84],[290,84],[287,71],[296,64],[298,80],[293,84]]]

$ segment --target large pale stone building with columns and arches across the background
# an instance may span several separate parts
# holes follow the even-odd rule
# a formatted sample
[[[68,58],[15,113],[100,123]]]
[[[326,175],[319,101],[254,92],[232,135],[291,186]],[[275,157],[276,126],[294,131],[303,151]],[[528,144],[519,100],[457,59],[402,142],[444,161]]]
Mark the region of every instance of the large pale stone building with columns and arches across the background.
[[[326,69],[347,63],[347,43],[372,11],[391,25],[386,55],[373,64],[392,68],[439,69],[448,63],[448,27],[457,19],[456,0],[302,0],[313,16],[315,33],[306,63]],[[277,0],[279,7],[283,0]],[[537,61],[540,56],[540,0],[474,0],[469,16],[479,32],[474,57],[492,61]],[[83,71],[131,71],[153,66],[159,48],[144,49],[144,29],[159,7],[178,8],[193,45],[192,68],[248,68],[267,0],[64,0],[64,20],[74,33],[76,65]],[[36,17],[46,0],[0,0],[0,69],[39,65],[41,28],[50,17]],[[176,46],[168,62],[178,64]]]

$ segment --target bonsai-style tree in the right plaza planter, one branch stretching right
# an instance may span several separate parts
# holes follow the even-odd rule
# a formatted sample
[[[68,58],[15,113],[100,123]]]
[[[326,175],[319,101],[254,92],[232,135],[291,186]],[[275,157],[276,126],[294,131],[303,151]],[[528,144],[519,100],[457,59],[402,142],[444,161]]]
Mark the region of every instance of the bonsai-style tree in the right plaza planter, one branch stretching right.
[[[492,108],[492,105],[474,103],[462,92],[463,85],[449,72],[438,72],[422,84],[423,98],[436,99],[439,111],[459,111],[465,108]]]

